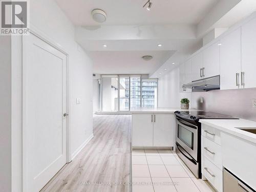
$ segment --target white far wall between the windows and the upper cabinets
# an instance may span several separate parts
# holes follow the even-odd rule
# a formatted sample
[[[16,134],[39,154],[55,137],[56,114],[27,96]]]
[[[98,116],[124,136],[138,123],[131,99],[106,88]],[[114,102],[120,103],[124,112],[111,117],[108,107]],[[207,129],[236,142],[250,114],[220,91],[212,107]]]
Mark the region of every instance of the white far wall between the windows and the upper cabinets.
[[[158,79],[158,107],[180,108],[180,99],[191,100],[191,93],[180,93],[180,70],[175,68]]]

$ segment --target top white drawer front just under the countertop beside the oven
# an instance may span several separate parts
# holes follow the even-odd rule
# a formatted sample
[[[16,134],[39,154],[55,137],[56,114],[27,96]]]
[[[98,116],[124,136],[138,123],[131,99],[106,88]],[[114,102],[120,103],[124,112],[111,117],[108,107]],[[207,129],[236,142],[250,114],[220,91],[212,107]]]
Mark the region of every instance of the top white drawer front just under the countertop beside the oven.
[[[202,124],[202,136],[221,145],[221,131],[214,127]]]

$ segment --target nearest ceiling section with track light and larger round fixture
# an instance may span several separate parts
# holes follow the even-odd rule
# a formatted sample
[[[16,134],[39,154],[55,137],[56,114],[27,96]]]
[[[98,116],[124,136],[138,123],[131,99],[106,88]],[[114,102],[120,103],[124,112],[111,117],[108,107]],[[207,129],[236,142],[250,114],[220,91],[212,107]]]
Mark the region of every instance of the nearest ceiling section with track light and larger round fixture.
[[[151,0],[151,11],[142,8],[145,0],[55,0],[77,26],[99,25],[93,9],[102,9],[108,19],[101,25],[198,24],[218,0]]]

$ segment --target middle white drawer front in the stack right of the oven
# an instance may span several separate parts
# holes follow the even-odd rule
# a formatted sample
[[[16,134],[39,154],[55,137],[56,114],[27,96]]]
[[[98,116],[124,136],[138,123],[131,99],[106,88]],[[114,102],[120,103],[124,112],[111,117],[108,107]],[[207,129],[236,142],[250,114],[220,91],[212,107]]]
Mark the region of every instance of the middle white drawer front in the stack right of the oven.
[[[221,146],[202,136],[202,155],[222,169]]]

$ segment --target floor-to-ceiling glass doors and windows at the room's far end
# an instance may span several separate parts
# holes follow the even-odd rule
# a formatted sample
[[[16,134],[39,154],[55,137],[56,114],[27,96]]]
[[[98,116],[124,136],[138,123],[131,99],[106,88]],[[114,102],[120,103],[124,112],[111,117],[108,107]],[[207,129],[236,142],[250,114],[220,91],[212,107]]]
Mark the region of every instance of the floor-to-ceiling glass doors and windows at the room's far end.
[[[141,75],[102,75],[100,109],[108,112],[157,108],[157,88],[157,79],[144,79]]]

